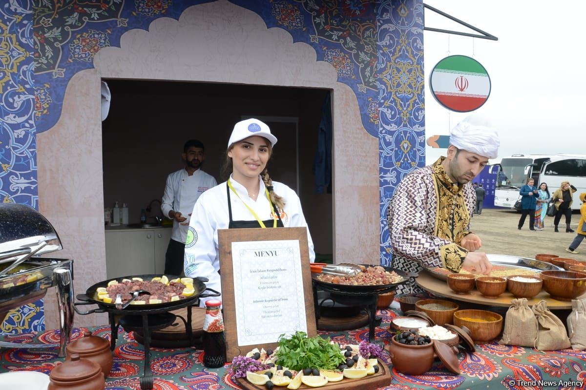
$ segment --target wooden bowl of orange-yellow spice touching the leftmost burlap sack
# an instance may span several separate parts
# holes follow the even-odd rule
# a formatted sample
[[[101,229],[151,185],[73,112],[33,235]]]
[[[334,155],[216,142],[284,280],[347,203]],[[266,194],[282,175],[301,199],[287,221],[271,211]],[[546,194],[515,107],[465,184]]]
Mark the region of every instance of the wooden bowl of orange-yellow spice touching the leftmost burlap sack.
[[[468,327],[474,341],[490,341],[503,330],[503,316],[486,310],[458,310],[454,313],[454,325]]]

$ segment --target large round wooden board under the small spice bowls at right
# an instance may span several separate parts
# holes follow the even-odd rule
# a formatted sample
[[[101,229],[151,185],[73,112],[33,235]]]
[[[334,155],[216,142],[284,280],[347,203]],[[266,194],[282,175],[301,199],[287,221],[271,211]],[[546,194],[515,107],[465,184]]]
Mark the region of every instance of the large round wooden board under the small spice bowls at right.
[[[427,272],[421,272],[419,277],[415,279],[415,282],[417,282],[419,287],[434,294],[452,298],[456,301],[478,303],[479,305],[500,306],[508,308],[511,305],[511,301],[515,299],[515,296],[508,291],[503,292],[503,294],[501,294],[499,298],[496,299],[485,298],[477,289],[473,289],[468,294],[456,294],[454,291],[452,291],[451,288],[448,287],[447,282],[434,278]],[[586,298],[586,294],[578,297],[577,299],[582,298]],[[542,289],[541,292],[533,298],[527,299],[527,305],[535,305],[541,300],[546,301],[547,308],[551,310],[572,308],[572,302],[564,302],[553,299],[544,289]]]

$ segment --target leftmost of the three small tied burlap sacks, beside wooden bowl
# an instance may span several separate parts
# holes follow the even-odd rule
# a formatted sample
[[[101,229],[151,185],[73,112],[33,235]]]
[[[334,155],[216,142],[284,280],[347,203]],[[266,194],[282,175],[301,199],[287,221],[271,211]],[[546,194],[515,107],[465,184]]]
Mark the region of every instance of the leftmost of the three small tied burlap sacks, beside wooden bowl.
[[[499,344],[535,347],[537,343],[537,319],[527,305],[526,298],[513,299],[505,316],[505,330]]]

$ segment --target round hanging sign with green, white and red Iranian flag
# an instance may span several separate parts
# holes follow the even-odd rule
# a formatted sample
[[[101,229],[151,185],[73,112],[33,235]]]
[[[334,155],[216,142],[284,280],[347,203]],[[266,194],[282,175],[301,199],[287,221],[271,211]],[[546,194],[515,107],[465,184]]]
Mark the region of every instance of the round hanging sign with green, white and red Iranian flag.
[[[490,95],[490,77],[481,63],[466,56],[449,56],[435,65],[430,88],[445,108],[469,112],[482,106]]]

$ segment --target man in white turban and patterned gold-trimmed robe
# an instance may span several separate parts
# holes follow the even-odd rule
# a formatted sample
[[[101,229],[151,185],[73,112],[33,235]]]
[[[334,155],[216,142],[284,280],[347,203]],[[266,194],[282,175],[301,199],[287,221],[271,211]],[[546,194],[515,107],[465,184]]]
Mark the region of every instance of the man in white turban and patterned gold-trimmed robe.
[[[489,158],[496,158],[499,136],[486,120],[469,116],[452,129],[449,143],[447,157],[407,174],[391,199],[387,222],[393,267],[488,274],[492,265],[486,253],[477,251],[482,241],[469,230],[476,206],[472,180]],[[397,288],[399,294],[420,291],[414,282]]]

